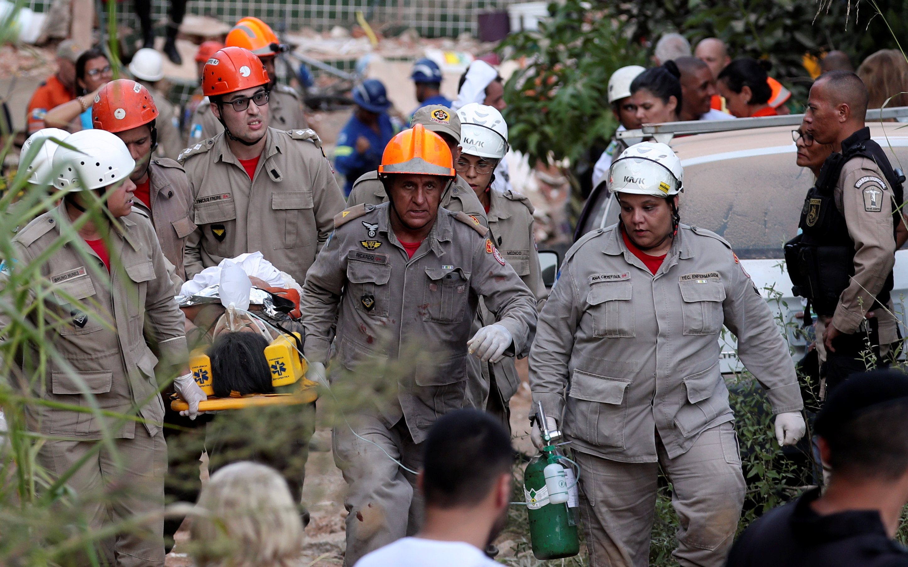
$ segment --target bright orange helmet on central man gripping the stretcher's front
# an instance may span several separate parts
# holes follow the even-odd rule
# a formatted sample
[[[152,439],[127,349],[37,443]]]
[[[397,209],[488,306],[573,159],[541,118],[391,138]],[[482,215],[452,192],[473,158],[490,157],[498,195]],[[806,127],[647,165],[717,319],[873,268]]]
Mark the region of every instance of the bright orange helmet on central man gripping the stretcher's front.
[[[379,175],[418,173],[454,177],[453,159],[448,143],[439,134],[415,124],[391,138],[381,155]]]

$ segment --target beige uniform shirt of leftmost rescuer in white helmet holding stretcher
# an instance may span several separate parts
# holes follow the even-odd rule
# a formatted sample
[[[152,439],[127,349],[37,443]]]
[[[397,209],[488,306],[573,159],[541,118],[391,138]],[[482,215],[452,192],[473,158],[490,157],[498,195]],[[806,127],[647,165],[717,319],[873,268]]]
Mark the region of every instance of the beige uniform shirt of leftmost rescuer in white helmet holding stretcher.
[[[151,221],[133,212],[118,224],[122,231],[114,229],[110,235],[109,276],[104,262],[83,240],[68,242],[41,266],[41,276],[56,289],[46,302],[53,315],[46,316],[45,340],[54,344],[74,375],[49,358],[34,394],[48,401],[88,406],[87,390],[103,410],[128,414],[141,406],[139,415],[148,420],[144,426],[154,436],[161,430],[164,408],[154,377],[158,359],[146,340],[157,344],[167,362],[185,363],[189,357],[185,318],[173,302],[166,259]],[[35,261],[69,225],[64,204],[30,222],[13,240],[18,261]],[[82,301],[84,309],[75,308],[71,298]],[[24,359],[26,373],[34,372],[34,347],[25,347]],[[42,406],[30,406],[28,411],[29,426],[36,431],[80,439],[102,437],[102,424],[92,414]],[[112,433],[133,438],[136,426],[142,425],[126,421]]]

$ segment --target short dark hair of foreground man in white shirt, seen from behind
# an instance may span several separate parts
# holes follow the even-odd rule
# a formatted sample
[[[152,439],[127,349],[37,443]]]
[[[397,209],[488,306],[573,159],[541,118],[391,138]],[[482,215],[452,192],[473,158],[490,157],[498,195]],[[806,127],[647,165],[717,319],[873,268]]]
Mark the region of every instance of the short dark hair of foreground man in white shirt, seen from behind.
[[[481,502],[514,464],[510,436],[491,415],[459,409],[429,430],[422,492],[427,506],[454,508]]]

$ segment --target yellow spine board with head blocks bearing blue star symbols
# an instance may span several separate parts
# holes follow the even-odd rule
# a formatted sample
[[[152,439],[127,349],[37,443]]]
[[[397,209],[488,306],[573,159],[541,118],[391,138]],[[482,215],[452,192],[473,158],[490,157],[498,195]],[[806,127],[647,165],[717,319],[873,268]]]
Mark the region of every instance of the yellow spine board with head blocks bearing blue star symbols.
[[[293,333],[300,337],[300,333]],[[301,337],[300,337],[301,338]],[[296,341],[287,335],[275,338],[271,345],[265,347],[265,358],[271,368],[271,385],[289,386],[300,383],[300,389],[291,394],[249,394],[241,396],[233,392],[230,397],[212,397],[212,360],[205,354],[204,349],[197,348],[192,351],[189,366],[195,383],[202,388],[209,398],[199,402],[200,412],[212,412],[222,409],[243,409],[257,406],[292,406],[294,404],[309,404],[318,399],[319,394],[315,382],[306,379],[308,365],[296,348]],[[176,412],[189,409],[189,405],[182,399],[171,401],[171,409]]]

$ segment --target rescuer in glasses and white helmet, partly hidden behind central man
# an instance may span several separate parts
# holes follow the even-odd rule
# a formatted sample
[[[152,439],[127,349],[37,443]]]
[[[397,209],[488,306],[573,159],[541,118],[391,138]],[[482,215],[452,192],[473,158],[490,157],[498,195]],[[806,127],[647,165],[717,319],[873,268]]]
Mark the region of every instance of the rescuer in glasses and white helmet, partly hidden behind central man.
[[[454,169],[469,183],[489,217],[489,237],[498,252],[527,284],[538,307],[548,296],[542,283],[536,239],[533,236],[533,205],[517,191],[492,188],[495,166],[508,152],[508,124],[501,112],[491,106],[469,103],[457,112],[460,117],[460,144],[463,151]],[[480,306],[477,328],[495,320],[495,315]],[[489,365],[469,360],[469,385],[473,405],[497,415],[510,430],[511,396],[520,386],[514,358]]]

